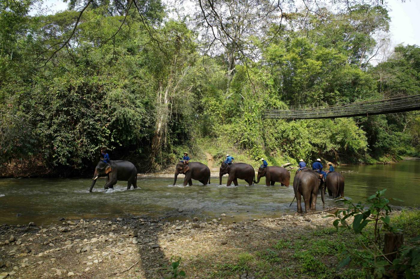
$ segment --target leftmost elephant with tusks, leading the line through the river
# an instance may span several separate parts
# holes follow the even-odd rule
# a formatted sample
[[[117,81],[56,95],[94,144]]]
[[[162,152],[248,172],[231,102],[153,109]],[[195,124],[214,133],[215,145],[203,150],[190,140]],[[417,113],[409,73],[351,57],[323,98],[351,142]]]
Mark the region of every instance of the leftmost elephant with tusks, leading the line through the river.
[[[134,189],[137,188],[137,169],[133,163],[128,161],[109,161],[105,163],[102,160],[98,162],[93,174],[92,185],[90,185],[89,192],[92,192],[98,177],[108,176],[107,183],[104,188],[114,188],[117,180],[128,181],[127,190],[133,185]]]

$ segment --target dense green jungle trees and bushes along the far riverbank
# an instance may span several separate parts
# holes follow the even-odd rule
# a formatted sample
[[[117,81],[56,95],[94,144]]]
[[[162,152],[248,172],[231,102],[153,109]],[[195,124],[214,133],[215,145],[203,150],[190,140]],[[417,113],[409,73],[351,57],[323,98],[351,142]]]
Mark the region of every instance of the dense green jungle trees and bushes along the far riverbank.
[[[418,46],[380,55],[386,5],[331,3],[71,0],[48,14],[37,0],[0,0],[2,175],[90,173],[104,145],[139,172],[173,165],[184,151],[217,163],[228,152],[254,166],[261,156],[270,164],[417,156],[413,112],[261,118],[266,108],[419,92]]]

